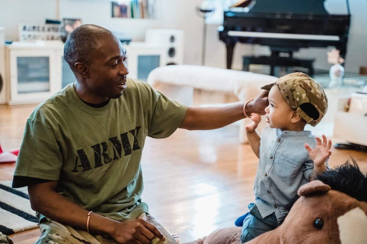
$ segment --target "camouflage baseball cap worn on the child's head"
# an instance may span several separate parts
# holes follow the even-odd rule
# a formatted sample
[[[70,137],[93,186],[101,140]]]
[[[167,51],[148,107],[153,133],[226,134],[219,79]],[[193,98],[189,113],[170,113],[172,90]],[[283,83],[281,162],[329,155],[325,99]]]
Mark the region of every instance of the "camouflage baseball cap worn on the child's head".
[[[328,104],[325,91],[308,75],[302,72],[284,75],[261,89],[269,91],[274,85],[307,124],[316,126],[326,114]]]

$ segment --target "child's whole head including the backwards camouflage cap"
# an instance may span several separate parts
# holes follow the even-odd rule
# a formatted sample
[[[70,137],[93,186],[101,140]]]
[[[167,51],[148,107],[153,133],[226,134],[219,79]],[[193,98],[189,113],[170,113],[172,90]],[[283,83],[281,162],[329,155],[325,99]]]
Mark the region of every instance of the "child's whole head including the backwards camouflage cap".
[[[265,112],[272,128],[301,128],[306,123],[315,126],[327,111],[324,90],[301,72],[285,75],[262,89],[269,90]]]

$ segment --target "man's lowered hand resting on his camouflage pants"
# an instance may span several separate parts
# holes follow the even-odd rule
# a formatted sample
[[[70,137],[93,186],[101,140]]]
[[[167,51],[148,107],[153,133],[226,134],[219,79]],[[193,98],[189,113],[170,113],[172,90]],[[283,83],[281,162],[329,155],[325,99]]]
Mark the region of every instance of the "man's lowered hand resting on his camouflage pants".
[[[110,236],[121,244],[149,244],[154,237],[166,240],[156,226],[142,218],[116,223]]]

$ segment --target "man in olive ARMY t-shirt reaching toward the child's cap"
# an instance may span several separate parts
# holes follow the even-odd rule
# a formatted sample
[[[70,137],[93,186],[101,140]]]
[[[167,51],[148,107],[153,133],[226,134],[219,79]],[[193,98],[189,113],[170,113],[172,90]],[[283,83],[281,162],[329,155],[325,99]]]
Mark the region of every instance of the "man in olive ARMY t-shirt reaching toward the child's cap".
[[[37,243],[174,243],[141,201],[145,137],[220,128],[245,118],[243,109],[263,113],[268,93],[246,106],[186,108],[127,79],[126,50],[95,25],[70,34],[64,58],[77,81],[30,115],[14,173],[40,218]]]

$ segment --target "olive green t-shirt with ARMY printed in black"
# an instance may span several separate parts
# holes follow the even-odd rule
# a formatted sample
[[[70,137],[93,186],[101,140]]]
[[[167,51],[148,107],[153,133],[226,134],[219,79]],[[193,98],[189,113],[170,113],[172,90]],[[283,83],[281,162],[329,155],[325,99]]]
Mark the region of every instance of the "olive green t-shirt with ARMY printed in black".
[[[92,108],[73,84],[37,106],[26,123],[15,176],[58,180],[57,191],[86,210],[117,221],[137,218],[146,136],[166,138],[186,107],[139,80],[120,98]],[[52,201],[52,199],[50,199]]]

